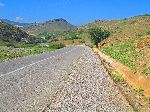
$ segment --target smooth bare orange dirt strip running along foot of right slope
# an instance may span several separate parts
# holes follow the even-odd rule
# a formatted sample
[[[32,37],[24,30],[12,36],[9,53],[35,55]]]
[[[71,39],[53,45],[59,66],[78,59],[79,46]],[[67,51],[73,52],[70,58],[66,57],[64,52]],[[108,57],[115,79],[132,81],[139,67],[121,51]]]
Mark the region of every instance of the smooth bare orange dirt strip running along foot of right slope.
[[[116,69],[120,74],[122,74],[123,78],[126,82],[131,85],[133,88],[141,88],[144,90],[145,97],[150,97],[150,79],[136,73],[134,74],[132,70],[130,70],[127,66],[122,63],[116,61],[115,59],[101,53],[98,49],[94,49],[102,60],[109,63],[110,66]]]

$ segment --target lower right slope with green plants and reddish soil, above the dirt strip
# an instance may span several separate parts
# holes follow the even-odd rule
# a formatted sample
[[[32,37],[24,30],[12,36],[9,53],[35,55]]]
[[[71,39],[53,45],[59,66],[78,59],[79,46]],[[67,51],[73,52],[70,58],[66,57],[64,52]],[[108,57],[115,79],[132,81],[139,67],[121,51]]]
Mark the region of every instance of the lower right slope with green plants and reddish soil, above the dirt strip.
[[[146,77],[150,76],[149,36],[115,42],[101,51],[127,65],[131,70]]]

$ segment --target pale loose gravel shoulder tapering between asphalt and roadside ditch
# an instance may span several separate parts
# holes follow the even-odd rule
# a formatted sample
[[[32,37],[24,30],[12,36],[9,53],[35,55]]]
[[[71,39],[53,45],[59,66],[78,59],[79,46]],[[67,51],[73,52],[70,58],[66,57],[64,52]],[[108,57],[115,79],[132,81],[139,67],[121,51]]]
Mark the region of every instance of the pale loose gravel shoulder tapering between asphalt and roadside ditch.
[[[102,63],[86,48],[44,112],[132,112]]]

